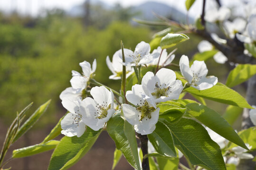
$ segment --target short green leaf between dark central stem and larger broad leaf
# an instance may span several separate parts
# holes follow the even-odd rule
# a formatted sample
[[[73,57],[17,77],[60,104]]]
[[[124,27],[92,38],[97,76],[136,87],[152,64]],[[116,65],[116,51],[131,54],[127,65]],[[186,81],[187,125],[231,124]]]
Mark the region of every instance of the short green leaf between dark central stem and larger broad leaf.
[[[148,138],[158,153],[166,156],[176,157],[171,132],[163,123],[157,122],[156,129],[152,132],[152,134],[148,135]]]

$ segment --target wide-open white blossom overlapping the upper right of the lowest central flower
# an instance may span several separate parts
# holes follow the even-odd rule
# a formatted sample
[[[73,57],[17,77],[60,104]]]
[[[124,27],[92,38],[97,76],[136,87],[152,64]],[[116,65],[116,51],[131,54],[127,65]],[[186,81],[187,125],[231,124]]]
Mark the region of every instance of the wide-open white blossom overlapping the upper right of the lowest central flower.
[[[180,80],[176,80],[174,71],[161,68],[156,75],[149,71],[143,76],[142,88],[152,94],[155,102],[166,102],[179,99],[183,86]]]

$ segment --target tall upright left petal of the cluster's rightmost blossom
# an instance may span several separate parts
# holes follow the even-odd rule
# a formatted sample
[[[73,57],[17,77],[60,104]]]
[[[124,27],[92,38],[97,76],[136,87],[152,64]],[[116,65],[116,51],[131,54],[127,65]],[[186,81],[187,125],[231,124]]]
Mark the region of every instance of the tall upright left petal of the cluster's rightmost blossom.
[[[190,69],[190,61],[188,56],[182,55],[179,65],[181,74],[188,80],[189,83],[191,83],[191,80],[193,79],[193,73]]]

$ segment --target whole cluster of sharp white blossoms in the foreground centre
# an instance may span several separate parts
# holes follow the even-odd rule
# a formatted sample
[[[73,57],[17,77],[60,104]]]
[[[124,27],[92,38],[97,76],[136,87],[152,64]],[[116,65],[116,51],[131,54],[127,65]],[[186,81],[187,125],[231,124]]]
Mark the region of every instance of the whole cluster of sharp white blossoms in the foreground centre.
[[[139,66],[142,64],[157,66],[157,69],[160,69],[156,74],[148,71],[141,81],[137,77],[141,84],[135,84],[132,90],[126,91],[123,98],[129,103],[121,103],[121,100],[117,101],[114,98],[111,88],[108,90],[105,86],[95,86],[87,89],[90,88],[88,85],[95,73],[96,60],[92,68],[87,61],[80,63],[83,73],[72,71],[73,77],[70,80],[72,87],[68,87],[60,94],[63,106],[69,111],[61,121],[62,134],[79,137],[85,132],[86,126],[95,131],[104,128],[115,113],[114,106],[118,104],[122,106],[123,119],[133,125],[137,133],[151,134],[159,118],[158,103],[179,99],[183,90],[182,82],[176,80],[173,70],[164,68],[172,62],[174,55],[168,55],[167,51],[160,47],[150,53],[150,45],[146,42],[140,42],[134,52],[129,49],[123,49],[123,52],[125,62],[122,60],[121,50],[114,53],[112,62],[108,56],[106,58],[107,66],[113,73],[110,79],[121,79],[123,66],[126,68],[126,78],[135,72],[140,73],[137,69],[141,69]],[[189,59],[184,55],[180,58],[180,71],[188,81],[187,87],[204,90],[218,81],[215,76],[206,76],[208,69],[203,61],[194,61],[190,68]]]

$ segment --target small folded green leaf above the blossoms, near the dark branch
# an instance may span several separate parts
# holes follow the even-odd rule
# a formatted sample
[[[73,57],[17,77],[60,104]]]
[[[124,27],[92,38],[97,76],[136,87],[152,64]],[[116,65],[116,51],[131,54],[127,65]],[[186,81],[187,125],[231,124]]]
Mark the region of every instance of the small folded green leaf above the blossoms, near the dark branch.
[[[170,48],[176,44],[190,39],[186,34],[171,34],[165,35],[160,42],[160,47],[162,49]]]

